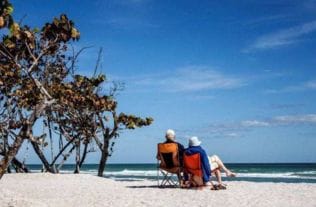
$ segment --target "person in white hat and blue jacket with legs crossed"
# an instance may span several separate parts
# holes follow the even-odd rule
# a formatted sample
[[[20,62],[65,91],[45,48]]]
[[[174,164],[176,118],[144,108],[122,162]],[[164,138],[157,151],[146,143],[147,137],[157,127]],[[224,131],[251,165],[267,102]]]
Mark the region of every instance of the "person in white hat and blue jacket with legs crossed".
[[[185,150],[184,153],[187,155],[200,153],[204,184],[210,182],[210,177],[213,173],[217,178],[218,185],[213,186],[213,184],[211,183],[212,188],[215,190],[226,189],[225,185],[222,183],[221,170],[223,170],[228,177],[235,177],[236,174],[228,170],[217,155],[207,156],[205,150],[200,146],[201,143],[202,142],[199,140],[198,137],[191,137],[189,139],[189,147]]]

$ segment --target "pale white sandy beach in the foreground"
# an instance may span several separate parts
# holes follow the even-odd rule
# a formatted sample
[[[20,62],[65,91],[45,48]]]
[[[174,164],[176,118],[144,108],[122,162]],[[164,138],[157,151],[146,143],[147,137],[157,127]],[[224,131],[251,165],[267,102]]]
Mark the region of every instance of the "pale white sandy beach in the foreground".
[[[161,189],[152,181],[87,174],[7,174],[0,181],[0,206],[316,206],[316,184],[227,184],[221,191]]]

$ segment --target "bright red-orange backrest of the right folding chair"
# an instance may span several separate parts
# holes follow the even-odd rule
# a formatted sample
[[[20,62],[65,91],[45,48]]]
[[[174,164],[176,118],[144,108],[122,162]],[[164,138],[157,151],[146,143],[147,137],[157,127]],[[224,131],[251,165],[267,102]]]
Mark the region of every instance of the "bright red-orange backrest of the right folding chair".
[[[183,164],[184,164],[184,169],[188,173],[191,173],[199,177],[203,176],[200,153],[196,153],[192,155],[187,155],[186,153],[184,153]]]

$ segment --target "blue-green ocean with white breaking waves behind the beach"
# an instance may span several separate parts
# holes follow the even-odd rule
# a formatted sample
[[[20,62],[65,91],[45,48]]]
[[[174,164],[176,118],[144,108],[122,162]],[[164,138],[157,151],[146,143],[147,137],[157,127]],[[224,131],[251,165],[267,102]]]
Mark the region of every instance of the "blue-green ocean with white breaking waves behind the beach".
[[[28,165],[31,172],[40,172],[42,165]],[[228,163],[226,164],[236,178],[226,178],[229,181],[252,182],[284,182],[284,183],[316,183],[316,163]],[[74,165],[66,164],[60,173],[72,173]],[[98,165],[86,164],[80,173],[96,175]],[[115,180],[156,180],[156,164],[107,164],[104,177]],[[213,177],[212,180],[215,178]]]

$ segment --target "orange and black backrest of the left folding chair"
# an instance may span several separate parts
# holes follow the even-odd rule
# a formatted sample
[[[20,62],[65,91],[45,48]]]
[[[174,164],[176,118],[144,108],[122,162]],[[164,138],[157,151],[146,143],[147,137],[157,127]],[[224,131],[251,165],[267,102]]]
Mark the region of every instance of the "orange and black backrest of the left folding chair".
[[[158,156],[161,168],[179,167],[179,151],[177,143],[159,143]]]

